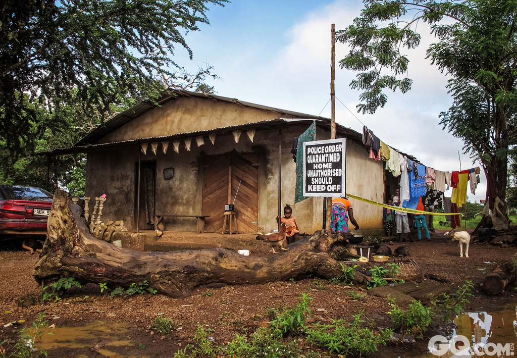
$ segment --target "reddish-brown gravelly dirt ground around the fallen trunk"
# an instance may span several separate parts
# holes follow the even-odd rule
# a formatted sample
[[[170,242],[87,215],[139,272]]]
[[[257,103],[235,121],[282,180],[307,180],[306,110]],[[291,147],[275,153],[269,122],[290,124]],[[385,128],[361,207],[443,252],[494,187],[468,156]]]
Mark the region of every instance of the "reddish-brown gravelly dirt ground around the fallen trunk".
[[[507,304],[515,303],[517,291],[510,287],[498,296],[485,295],[479,284],[496,265],[504,263],[517,252],[514,246],[501,248],[490,245],[471,245],[469,258],[459,257],[459,248],[450,240],[445,241],[439,234],[433,240],[404,243],[410,248],[413,259],[420,265],[423,273],[433,273],[448,280],[455,291],[466,280],[475,284],[475,294],[468,311],[491,311]],[[391,249],[402,245],[394,243]],[[271,254],[272,255],[272,254]],[[279,255],[282,255],[280,253]],[[78,289],[68,290],[62,300],[30,307],[19,307],[18,299],[26,294],[39,292],[32,277],[37,255],[18,248],[3,248],[0,251],[0,342],[19,339],[19,331],[32,324],[40,312],[45,312],[48,325],[59,327],[81,327],[87,323],[99,323],[115,327],[113,333],[105,335],[84,335],[77,338],[82,345],[50,346],[49,357],[82,356],[173,356],[178,348],[192,342],[194,331],[199,323],[207,324],[214,332],[210,335],[217,344],[235,338],[235,334],[249,334],[269,321],[268,309],[291,308],[298,304],[297,297],[302,292],[312,297],[312,320],[330,323],[333,319],[350,320],[360,311],[375,320],[379,327],[389,327],[389,306],[386,300],[368,296],[364,302],[355,301],[348,291],[367,294],[364,286],[344,287],[330,285],[328,281],[305,278],[295,282],[272,282],[265,285],[200,287],[187,299],[170,299],[163,295],[134,295],[129,298],[112,299],[101,293],[100,287],[88,284]],[[427,280],[427,279],[424,279]],[[178,323],[180,330],[160,336],[150,330],[155,317],[163,314]],[[5,327],[4,324],[17,322]],[[121,328],[123,327],[123,329]],[[72,337],[72,329],[68,329]],[[118,330],[118,331],[117,331]],[[59,331],[59,334],[67,331]],[[117,334],[118,332],[118,334]],[[120,334],[120,332],[122,332]],[[110,346],[110,342],[122,339],[126,343]],[[432,336],[434,334],[430,334]],[[303,340],[298,341],[303,347]],[[427,349],[428,339],[417,344],[391,345],[374,354],[376,357],[419,356]],[[139,345],[145,345],[145,349]],[[4,345],[4,347],[9,344]],[[79,348],[71,348],[80,346]],[[109,353],[106,353],[109,352]],[[116,353],[116,354],[112,354]]]

